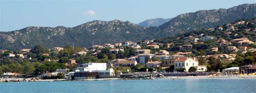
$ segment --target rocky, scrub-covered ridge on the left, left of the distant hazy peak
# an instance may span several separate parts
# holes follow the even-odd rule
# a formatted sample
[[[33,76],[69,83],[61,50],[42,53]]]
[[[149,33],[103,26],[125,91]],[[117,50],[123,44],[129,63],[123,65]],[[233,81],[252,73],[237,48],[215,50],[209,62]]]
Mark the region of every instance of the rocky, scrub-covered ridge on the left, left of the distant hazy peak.
[[[139,27],[129,21],[94,20],[76,27],[26,27],[12,32],[1,32],[1,48],[31,48],[40,44],[47,48],[54,46],[92,46],[123,42],[126,40],[144,40],[157,37],[146,27]],[[155,32],[159,33],[159,32]]]

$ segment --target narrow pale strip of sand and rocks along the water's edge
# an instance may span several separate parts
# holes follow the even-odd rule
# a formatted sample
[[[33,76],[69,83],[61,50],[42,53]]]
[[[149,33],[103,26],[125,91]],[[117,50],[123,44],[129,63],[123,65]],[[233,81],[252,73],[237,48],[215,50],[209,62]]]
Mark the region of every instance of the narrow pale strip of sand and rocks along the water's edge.
[[[168,77],[157,77],[154,79],[167,79],[167,80],[181,80],[181,79],[256,79],[256,75],[235,75],[235,76],[168,76]],[[25,80],[25,81],[24,81]],[[0,79],[0,82],[52,82],[52,81],[94,81],[94,80],[145,80],[141,78],[104,78],[104,79],[86,79],[86,80],[71,80],[71,79],[56,79],[56,80],[29,80],[24,78],[9,78]]]

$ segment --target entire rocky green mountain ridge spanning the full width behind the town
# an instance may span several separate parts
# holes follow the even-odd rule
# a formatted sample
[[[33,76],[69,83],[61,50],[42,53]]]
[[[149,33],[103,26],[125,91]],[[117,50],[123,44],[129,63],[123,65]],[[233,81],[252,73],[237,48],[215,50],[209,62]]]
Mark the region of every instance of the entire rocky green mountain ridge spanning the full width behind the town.
[[[129,21],[94,20],[76,27],[25,27],[11,32],[0,32],[0,49],[18,50],[40,44],[47,48],[75,45],[148,40],[176,35],[193,29],[209,28],[255,17],[256,4],[243,4],[229,9],[201,10],[178,15],[159,27],[141,27]]]

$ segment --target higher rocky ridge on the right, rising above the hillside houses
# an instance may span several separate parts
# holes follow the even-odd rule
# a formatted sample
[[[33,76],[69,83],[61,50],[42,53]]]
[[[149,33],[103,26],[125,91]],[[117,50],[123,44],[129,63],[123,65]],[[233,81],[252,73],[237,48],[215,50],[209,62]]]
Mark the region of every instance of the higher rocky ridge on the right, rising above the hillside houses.
[[[239,19],[256,17],[256,4],[243,4],[229,9],[200,10],[176,16],[159,28],[164,32],[190,31],[216,27]]]

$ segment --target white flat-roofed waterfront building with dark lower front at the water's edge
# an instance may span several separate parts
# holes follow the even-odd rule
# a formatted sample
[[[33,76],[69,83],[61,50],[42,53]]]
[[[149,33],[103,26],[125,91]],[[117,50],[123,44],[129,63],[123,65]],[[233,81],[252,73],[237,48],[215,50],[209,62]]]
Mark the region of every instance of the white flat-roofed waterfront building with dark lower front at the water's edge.
[[[107,69],[107,63],[85,63],[73,69],[75,80],[109,78],[115,75],[114,69]]]

